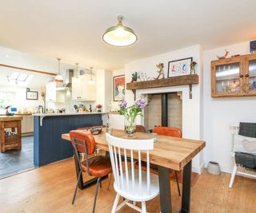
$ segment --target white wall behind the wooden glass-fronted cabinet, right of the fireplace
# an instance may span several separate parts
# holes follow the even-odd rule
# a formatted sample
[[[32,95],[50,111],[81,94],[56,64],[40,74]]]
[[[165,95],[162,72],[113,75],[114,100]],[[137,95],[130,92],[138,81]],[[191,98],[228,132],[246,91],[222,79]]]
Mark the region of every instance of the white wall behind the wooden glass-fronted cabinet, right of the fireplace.
[[[234,54],[250,53],[249,41],[235,45],[223,46],[204,52],[203,62],[203,99],[204,99],[204,140],[206,148],[204,160],[217,161],[223,172],[231,172],[233,167],[230,157],[232,136],[230,125],[238,125],[241,121],[256,122],[255,97],[212,98],[210,94],[210,61],[216,60],[216,55],[223,55],[225,49]]]

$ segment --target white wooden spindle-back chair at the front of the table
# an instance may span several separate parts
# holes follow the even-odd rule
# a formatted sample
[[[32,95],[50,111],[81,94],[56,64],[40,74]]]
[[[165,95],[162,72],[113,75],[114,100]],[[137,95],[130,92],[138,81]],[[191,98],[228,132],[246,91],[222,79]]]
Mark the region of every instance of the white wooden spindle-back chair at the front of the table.
[[[145,213],[146,201],[154,199],[159,194],[158,176],[150,173],[150,150],[154,148],[154,139],[126,140],[106,133],[106,140],[110,149],[114,190],[117,192],[111,213],[125,205]],[[142,152],[143,155],[146,154],[146,171],[142,171]],[[124,157],[124,165],[121,155]],[[130,169],[127,155],[131,161]],[[134,157],[138,159],[138,169],[134,168]],[[120,196],[125,200],[118,205]],[[142,202],[142,208],[137,207],[136,202]]]

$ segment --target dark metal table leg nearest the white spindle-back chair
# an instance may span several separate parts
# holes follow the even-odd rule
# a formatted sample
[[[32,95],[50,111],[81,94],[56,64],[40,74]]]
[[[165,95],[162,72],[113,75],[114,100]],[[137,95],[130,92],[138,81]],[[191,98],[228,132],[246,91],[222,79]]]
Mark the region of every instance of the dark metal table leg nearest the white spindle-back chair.
[[[160,204],[162,213],[171,213],[170,168],[158,166]]]

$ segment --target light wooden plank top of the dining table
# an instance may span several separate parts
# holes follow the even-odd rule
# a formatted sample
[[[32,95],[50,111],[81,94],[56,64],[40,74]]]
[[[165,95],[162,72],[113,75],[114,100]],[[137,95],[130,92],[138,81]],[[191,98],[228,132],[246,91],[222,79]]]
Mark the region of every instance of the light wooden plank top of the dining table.
[[[103,128],[102,133],[94,136],[94,138],[97,148],[108,151],[109,148],[106,142],[105,133],[105,129]],[[122,130],[114,129],[112,135],[122,138],[125,133]],[[155,137],[153,134],[142,132],[136,132],[135,136],[138,140]],[[154,150],[150,151],[150,163],[177,171],[181,170],[206,146],[206,142],[203,140],[191,140],[160,135],[157,135],[156,137],[157,142],[154,144]],[[62,139],[70,140],[70,134],[62,134]],[[136,157],[134,156],[134,158]],[[142,153],[142,160],[146,160],[146,152],[145,155]]]

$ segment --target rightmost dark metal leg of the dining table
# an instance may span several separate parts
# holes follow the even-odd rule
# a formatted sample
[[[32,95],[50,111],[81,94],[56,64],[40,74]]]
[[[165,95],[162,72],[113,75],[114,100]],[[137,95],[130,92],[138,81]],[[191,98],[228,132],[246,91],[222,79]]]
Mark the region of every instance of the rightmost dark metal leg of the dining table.
[[[190,191],[191,191],[191,160],[183,168],[182,184],[182,209],[181,213],[190,212]]]

